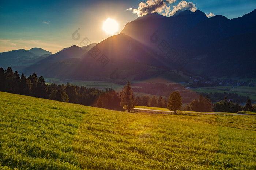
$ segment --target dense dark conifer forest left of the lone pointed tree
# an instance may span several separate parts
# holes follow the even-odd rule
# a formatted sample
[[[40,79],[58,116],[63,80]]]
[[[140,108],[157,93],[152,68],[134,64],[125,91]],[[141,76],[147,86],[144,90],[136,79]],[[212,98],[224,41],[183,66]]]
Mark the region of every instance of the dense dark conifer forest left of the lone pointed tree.
[[[98,90],[69,83],[46,84],[44,78],[38,78],[36,73],[26,78],[23,73],[20,76],[17,71],[13,72],[11,67],[0,68],[0,91],[101,108],[121,107],[121,95],[112,88]]]

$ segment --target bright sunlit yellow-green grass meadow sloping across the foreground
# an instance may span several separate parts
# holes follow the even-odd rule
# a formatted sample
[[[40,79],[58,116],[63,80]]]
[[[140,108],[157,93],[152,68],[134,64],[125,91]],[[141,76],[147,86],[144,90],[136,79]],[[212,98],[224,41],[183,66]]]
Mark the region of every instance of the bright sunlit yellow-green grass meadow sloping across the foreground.
[[[0,169],[256,169],[256,116],[128,113],[0,96]]]

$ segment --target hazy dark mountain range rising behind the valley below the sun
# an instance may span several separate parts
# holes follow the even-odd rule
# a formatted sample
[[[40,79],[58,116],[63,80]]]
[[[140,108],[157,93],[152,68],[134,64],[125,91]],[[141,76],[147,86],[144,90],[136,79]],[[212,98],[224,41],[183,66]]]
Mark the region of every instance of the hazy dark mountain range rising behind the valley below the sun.
[[[32,59],[38,59],[44,52],[10,51],[0,53],[0,59],[11,56],[18,62],[21,55],[26,56],[30,64],[19,71],[50,78],[168,79],[172,70],[235,78],[255,77],[255,47],[256,10],[231,20],[222,15],[207,18],[199,10],[178,10],[171,17],[158,13],[144,15],[101,43],[82,48],[71,46],[52,55],[48,52],[44,55],[49,56],[33,60],[34,63]]]

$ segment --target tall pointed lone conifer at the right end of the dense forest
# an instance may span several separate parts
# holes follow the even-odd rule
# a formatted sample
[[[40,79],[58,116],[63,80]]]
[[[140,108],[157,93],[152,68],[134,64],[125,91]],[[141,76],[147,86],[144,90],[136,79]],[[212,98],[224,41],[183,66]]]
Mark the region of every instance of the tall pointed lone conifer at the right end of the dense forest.
[[[131,83],[128,81],[127,85],[124,86],[123,91],[121,92],[121,103],[122,107],[126,107],[128,112],[134,108],[135,98],[132,91]]]

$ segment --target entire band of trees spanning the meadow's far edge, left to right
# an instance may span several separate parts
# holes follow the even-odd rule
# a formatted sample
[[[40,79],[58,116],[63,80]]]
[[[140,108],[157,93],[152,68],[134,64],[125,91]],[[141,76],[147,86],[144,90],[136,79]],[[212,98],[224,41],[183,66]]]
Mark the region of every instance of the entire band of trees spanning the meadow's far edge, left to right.
[[[158,85],[162,87],[162,84]],[[46,84],[44,78],[42,76],[38,78],[36,73],[26,78],[23,73],[20,76],[17,71],[13,72],[11,67],[5,70],[0,68],[0,91],[100,108],[123,109],[123,107],[125,107],[128,111],[133,110],[135,105],[139,105],[168,108],[176,113],[176,110],[180,110],[182,106],[182,97],[180,92],[177,91],[170,94],[168,101],[166,98],[163,98],[162,95],[158,98],[156,95],[152,98],[148,95],[137,96],[135,98],[129,81],[119,93],[112,88],[98,90],[84,86],[74,86],[69,83],[66,85]],[[251,100],[248,99],[246,105],[241,107],[238,102],[235,104],[232,101],[228,101],[227,96],[225,96],[224,100],[212,105],[209,97],[203,97],[201,94],[199,99],[193,100],[187,104],[187,106],[184,107],[184,111],[256,111],[256,106],[253,107]]]

